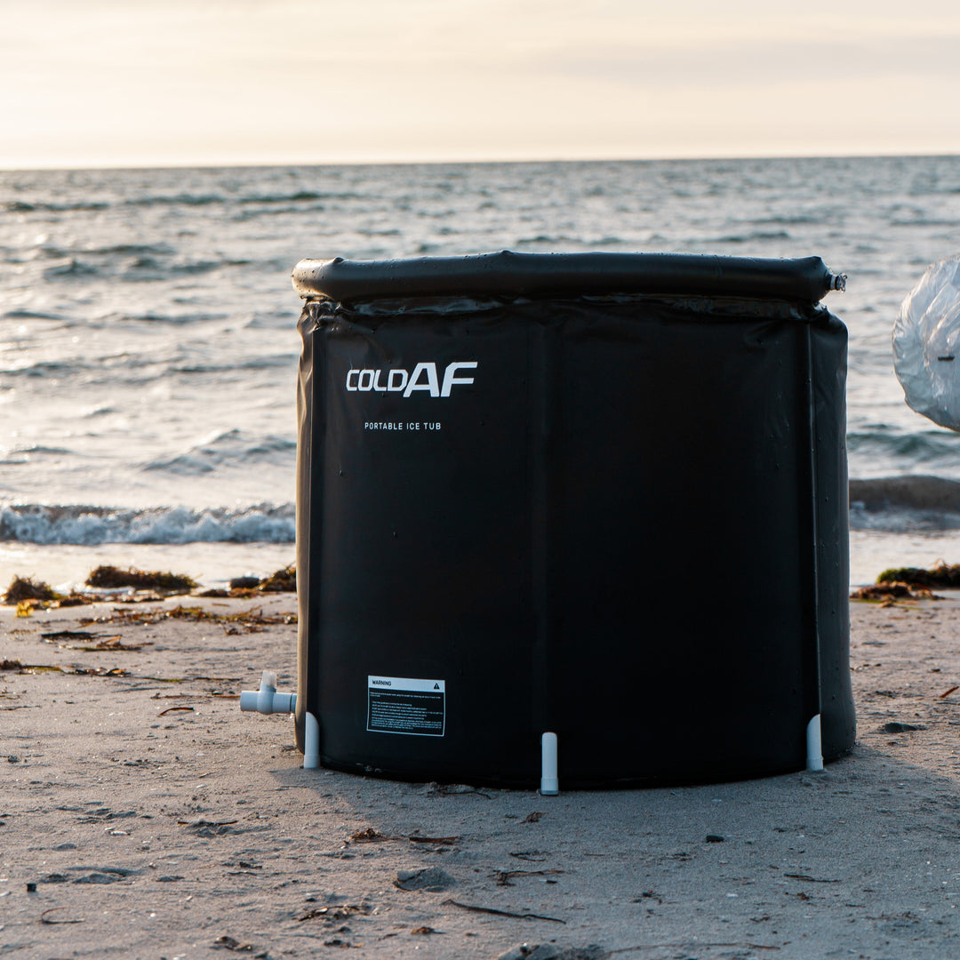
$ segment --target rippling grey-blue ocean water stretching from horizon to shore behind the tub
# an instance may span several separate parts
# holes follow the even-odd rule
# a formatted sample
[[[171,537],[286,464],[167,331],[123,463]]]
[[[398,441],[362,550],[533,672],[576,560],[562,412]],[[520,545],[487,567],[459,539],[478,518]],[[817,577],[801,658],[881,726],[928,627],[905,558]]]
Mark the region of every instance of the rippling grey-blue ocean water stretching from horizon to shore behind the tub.
[[[960,157],[0,172],[0,588],[98,563],[216,585],[294,555],[305,256],[823,257],[850,328],[852,581],[960,562],[960,436],[893,372],[960,246]]]

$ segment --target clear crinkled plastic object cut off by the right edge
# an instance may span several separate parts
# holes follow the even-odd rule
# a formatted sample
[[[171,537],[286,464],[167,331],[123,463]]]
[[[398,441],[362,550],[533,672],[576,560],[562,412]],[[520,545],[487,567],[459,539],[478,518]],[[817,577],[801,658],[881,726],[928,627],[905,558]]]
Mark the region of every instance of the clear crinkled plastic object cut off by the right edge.
[[[893,339],[907,405],[960,431],[960,254],[927,268],[900,306]]]

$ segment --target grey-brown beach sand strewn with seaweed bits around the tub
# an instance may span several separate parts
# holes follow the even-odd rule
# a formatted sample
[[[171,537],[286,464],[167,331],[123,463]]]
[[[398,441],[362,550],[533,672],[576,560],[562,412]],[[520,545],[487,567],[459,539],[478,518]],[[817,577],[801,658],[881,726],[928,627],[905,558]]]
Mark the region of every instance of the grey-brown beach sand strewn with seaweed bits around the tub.
[[[547,798],[300,769],[233,699],[291,686],[291,623],[79,623],[182,602],[0,612],[61,668],[0,673],[0,956],[960,956],[958,594],[852,604],[823,774]]]

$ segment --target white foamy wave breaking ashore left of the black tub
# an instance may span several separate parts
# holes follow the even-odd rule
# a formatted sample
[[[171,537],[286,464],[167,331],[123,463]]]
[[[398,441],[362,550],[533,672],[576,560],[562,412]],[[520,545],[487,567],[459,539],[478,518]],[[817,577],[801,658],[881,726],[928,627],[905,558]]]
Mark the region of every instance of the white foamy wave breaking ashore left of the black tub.
[[[23,504],[0,508],[0,542],[72,543],[293,543],[294,504],[123,509]]]

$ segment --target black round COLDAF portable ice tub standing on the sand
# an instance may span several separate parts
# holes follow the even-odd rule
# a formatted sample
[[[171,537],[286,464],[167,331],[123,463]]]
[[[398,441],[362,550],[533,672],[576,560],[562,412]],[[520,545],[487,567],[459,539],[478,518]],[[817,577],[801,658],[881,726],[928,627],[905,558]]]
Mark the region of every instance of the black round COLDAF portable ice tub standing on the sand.
[[[308,722],[324,766],[535,786],[556,748],[564,788],[848,752],[839,280],[301,261],[300,749]]]

